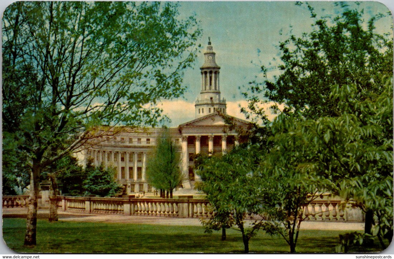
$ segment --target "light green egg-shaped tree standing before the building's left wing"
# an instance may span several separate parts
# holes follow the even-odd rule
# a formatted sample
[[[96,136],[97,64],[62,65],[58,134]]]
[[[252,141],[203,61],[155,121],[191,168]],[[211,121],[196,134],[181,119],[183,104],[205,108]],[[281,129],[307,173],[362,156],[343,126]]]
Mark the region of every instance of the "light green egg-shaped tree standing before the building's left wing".
[[[156,189],[167,191],[173,198],[173,189],[180,185],[183,174],[180,170],[179,146],[171,139],[168,130],[156,139],[156,146],[147,160],[146,176],[148,182]]]

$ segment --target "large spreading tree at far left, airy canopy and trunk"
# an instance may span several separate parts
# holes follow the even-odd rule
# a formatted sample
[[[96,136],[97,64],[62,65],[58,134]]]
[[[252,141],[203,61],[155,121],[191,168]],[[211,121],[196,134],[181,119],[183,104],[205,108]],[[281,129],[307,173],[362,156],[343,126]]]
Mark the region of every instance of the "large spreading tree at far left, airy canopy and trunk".
[[[107,124],[155,125],[154,106],[183,94],[201,31],[160,2],[15,2],[3,15],[3,130],[26,155],[24,244],[36,244],[43,168]],[[151,104],[151,105],[149,105]],[[100,133],[100,134],[98,134]],[[103,133],[105,134],[105,133]]]

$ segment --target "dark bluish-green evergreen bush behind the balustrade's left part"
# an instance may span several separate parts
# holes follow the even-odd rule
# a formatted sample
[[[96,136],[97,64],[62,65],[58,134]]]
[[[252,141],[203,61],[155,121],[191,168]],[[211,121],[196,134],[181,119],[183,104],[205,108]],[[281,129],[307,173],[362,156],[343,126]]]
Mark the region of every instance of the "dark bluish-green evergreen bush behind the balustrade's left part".
[[[118,192],[122,191],[113,179],[114,172],[110,168],[104,169],[102,165],[95,167],[88,161],[86,165],[86,179],[83,182],[85,194],[95,194],[100,197],[113,197]]]

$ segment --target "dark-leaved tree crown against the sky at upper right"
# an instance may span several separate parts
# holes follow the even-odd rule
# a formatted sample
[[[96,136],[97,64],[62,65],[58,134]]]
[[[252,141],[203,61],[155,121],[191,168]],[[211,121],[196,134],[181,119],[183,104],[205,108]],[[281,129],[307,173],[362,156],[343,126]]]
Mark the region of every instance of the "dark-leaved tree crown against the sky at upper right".
[[[265,118],[260,104],[275,102],[284,104],[284,111],[301,111],[307,118],[338,116],[340,111],[329,98],[334,85],[355,85],[358,100],[382,92],[382,75],[392,75],[392,29],[378,34],[375,21],[385,15],[376,14],[366,23],[364,10],[351,9],[348,4],[339,4],[341,15],[318,19],[312,6],[297,3],[307,5],[314,19],[312,32],[301,37],[291,35],[279,43],[280,62],[261,67],[265,80],[250,82],[248,91],[244,92],[252,113]],[[281,74],[268,78],[272,70]],[[277,105],[273,108],[278,111]]]

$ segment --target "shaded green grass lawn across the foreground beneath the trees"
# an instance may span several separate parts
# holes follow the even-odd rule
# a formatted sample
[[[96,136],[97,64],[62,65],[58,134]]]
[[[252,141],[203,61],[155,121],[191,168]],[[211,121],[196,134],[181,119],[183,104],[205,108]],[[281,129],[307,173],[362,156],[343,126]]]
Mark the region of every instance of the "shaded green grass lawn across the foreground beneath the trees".
[[[204,233],[200,226],[64,222],[38,220],[37,246],[23,246],[26,220],[3,218],[3,237],[16,252],[43,253],[231,253],[242,252],[240,232],[229,229],[227,240],[221,232]],[[335,252],[338,235],[347,231],[301,230],[297,252]],[[376,242],[377,243],[377,242]],[[377,246],[373,250],[378,252]],[[288,252],[286,242],[263,232],[250,241],[250,252]],[[367,252],[352,251],[352,252]]]

